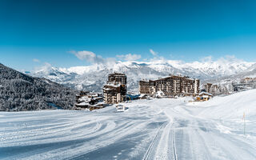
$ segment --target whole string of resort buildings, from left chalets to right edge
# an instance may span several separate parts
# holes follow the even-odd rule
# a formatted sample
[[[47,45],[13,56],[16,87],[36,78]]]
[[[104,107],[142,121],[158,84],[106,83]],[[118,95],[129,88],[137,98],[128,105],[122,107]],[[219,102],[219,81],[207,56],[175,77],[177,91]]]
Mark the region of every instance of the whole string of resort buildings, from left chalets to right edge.
[[[139,81],[139,94],[127,93],[126,74],[114,73],[108,75],[106,85],[103,86],[103,94],[81,91],[76,95],[76,110],[100,109],[106,104],[117,104],[126,100],[139,98],[151,99],[150,97],[175,97],[175,96],[194,96],[194,101],[207,101],[214,95],[228,93],[226,87],[206,83],[199,90],[199,80],[180,75],[170,75],[166,78],[157,80]],[[240,82],[232,84],[234,90],[245,87],[256,88],[256,78],[243,78]],[[1,86],[0,86],[1,87]],[[200,93],[199,93],[200,92]]]

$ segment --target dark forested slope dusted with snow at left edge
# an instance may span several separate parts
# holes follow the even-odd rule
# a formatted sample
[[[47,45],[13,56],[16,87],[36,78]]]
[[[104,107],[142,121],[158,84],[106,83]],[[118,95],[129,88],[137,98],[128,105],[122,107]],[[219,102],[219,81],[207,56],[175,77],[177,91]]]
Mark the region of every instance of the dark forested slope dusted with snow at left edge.
[[[50,103],[63,109],[74,106],[75,90],[46,78],[34,78],[0,63],[0,110],[45,110]]]

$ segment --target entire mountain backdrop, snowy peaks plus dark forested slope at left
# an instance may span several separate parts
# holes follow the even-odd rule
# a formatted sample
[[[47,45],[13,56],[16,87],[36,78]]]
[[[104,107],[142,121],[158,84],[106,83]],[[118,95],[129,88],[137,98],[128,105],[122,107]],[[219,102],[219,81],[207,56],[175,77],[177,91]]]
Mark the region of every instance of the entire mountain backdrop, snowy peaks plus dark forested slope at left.
[[[230,86],[241,78],[256,77],[256,63],[232,59],[190,63],[160,59],[70,68],[48,64],[26,74],[0,63],[0,110],[72,109],[78,90],[101,92],[108,74],[113,72],[126,74],[128,91],[138,92],[139,80],[158,79],[169,74],[198,78],[201,84],[214,82]]]

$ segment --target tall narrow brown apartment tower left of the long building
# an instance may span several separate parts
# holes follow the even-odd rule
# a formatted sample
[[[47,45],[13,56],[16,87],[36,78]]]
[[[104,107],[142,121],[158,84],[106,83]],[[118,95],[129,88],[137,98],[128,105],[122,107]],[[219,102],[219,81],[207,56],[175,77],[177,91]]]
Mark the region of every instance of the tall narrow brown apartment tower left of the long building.
[[[126,74],[109,74],[108,81],[103,86],[103,99],[106,104],[115,104],[126,99],[126,81]]]

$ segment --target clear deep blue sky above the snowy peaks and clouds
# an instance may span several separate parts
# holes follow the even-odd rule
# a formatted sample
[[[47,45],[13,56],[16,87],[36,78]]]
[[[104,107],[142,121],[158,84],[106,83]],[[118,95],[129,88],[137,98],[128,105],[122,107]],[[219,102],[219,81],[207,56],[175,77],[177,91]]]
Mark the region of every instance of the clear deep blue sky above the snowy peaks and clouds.
[[[154,57],[150,49],[185,62],[225,55],[252,62],[255,15],[256,1],[246,0],[0,0],[0,62],[18,70],[86,66],[92,62],[75,53],[145,60]]]

